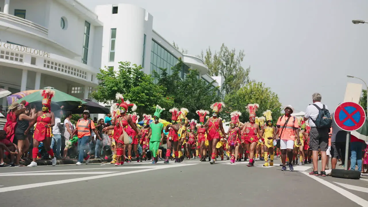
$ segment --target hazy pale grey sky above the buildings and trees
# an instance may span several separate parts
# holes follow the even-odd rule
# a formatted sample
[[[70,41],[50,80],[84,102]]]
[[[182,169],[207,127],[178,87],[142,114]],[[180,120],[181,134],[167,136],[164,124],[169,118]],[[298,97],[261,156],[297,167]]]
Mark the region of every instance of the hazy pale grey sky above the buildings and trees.
[[[305,111],[314,92],[332,112],[347,82],[368,82],[368,1],[364,0],[79,0],[130,3],[153,15],[153,29],[199,55],[210,46],[244,49],[243,67],[265,83],[283,105]],[[231,3],[230,3],[231,2]],[[363,86],[365,87],[365,86]]]

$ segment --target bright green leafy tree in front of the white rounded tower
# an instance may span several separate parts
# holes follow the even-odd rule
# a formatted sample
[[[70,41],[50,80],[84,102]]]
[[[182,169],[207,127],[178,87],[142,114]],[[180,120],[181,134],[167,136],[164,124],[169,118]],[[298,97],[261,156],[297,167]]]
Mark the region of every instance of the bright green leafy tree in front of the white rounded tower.
[[[153,78],[145,74],[141,66],[130,62],[120,62],[119,68],[100,69],[97,75],[99,85],[92,92],[92,97],[99,102],[114,103],[116,93],[121,93],[124,100],[137,105],[137,113],[153,114],[156,104],[163,108],[173,105],[173,98],[164,96],[166,88],[154,84]]]

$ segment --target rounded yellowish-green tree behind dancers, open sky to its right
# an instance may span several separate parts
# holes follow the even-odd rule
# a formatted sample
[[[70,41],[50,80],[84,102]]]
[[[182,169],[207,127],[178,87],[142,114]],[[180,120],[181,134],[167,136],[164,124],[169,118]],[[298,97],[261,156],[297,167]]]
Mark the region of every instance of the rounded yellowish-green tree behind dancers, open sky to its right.
[[[256,83],[252,81],[241,87],[240,90],[225,96],[226,111],[228,112],[227,119],[229,119],[230,112],[237,110],[242,113],[240,121],[243,123],[248,122],[249,113],[245,107],[249,103],[259,104],[256,112],[258,117],[263,116],[263,112],[268,109],[272,111],[273,123],[276,123],[281,116],[281,103],[277,94],[272,92],[270,88],[265,87],[262,82]]]

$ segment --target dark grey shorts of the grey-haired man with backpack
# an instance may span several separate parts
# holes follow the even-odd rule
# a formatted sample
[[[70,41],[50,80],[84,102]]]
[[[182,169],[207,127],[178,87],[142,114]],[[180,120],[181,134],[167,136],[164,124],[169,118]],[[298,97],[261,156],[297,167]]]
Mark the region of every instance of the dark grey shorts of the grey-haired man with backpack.
[[[317,127],[312,127],[309,132],[309,150],[322,152],[327,151],[328,148],[328,130],[329,129],[319,129]]]

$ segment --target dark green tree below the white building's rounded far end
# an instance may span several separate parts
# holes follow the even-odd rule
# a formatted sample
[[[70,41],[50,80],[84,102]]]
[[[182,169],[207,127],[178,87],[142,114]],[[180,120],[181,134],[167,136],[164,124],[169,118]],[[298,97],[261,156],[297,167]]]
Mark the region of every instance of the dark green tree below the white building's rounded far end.
[[[219,101],[218,87],[198,79],[197,70],[190,70],[182,79],[180,71],[183,64],[179,59],[176,66],[171,68],[171,75],[167,73],[167,69],[161,69],[160,74],[153,71],[153,76],[158,80],[158,85],[166,89],[165,94],[168,97],[174,97],[173,107],[187,108],[188,119],[197,118],[196,110],[209,109],[212,103]],[[163,112],[163,117],[170,119],[169,110]]]

